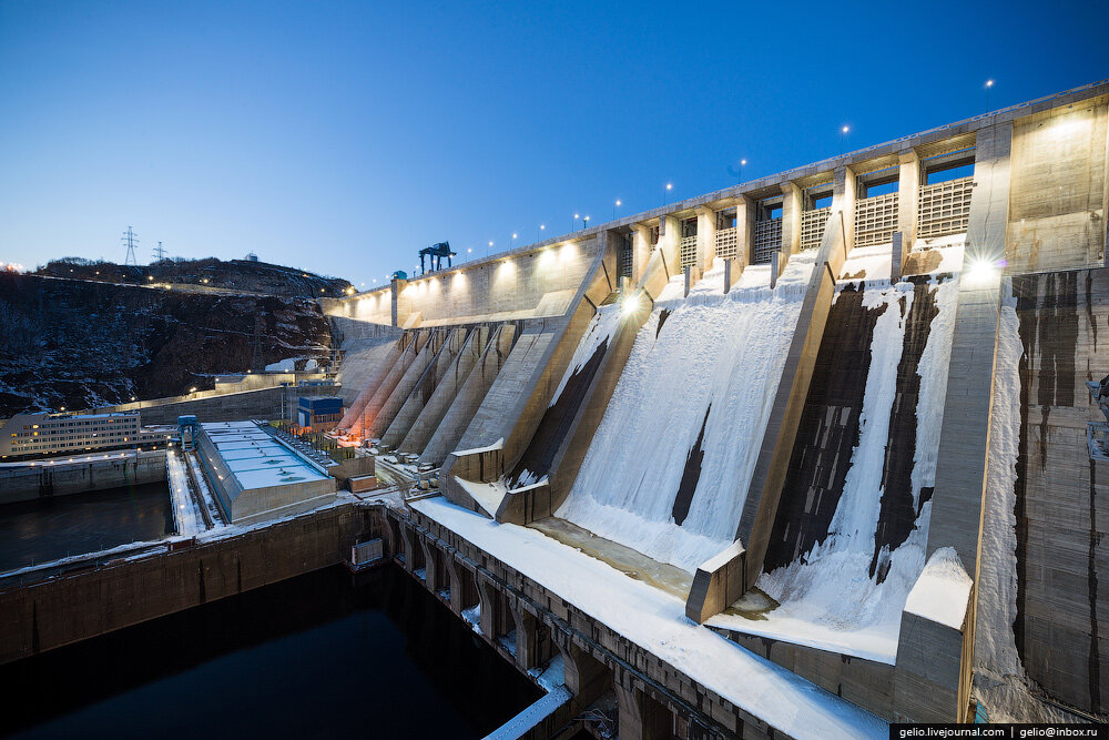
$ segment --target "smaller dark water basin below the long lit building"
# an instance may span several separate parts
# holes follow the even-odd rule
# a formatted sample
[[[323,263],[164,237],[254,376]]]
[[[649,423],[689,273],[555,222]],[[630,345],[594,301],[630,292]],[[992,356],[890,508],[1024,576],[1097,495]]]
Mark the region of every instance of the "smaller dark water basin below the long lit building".
[[[147,483],[0,506],[0,570],[173,531],[170,487]]]

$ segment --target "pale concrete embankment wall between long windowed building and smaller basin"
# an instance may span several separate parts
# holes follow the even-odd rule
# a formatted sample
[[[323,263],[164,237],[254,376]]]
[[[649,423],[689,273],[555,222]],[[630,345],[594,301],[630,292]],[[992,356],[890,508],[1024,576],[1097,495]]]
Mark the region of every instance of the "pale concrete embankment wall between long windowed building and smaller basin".
[[[165,450],[82,455],[0,467],[0,504],[165,480]]]

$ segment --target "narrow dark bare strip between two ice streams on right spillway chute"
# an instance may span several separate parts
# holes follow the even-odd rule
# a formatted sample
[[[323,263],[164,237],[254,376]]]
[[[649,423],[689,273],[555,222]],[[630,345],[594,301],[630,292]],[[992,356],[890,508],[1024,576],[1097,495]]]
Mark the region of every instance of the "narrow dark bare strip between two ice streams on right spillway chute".
[[[916,406],[920,397],[920,356],[928,346],[932,322],[939,313],[936,305],[936,288],[927,278],[909,278],[913,286],[913,305],[905,315],[905,298],[901,300],[905,336],[902,342],[901,362],[897,364],[897,385],[893,413],[889,416],[889,432],[886,438],[886,454],[882,464],[882,503],[878,523],[874,531],[874,556],[871,559],[871,578],[877,576],[882,582],[888,572],[889,559],[879,571],[879,556],[883,548],[897,549],[913,529],[919,506],[913,500],[913,467],[916,457]],[[922,500],[923,500],[922,490]],[[930,491],[929,491],[930,494]],[[923,504],[922,504],[923,505]]]

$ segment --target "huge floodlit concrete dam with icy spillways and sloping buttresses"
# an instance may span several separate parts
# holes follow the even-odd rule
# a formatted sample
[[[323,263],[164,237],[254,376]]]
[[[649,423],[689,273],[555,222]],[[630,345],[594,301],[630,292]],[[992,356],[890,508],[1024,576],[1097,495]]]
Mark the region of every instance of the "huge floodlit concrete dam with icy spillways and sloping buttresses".
[[[394,553],[621,738],[1105,720],[1107,122],[1100,82],[323,300],[339,436],[437,470]]]

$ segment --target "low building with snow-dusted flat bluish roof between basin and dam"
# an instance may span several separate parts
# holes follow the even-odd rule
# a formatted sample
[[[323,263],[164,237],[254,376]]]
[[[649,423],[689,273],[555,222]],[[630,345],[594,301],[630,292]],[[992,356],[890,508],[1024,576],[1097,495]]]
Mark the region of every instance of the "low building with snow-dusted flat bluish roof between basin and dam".
[[[232,524],[298,514],[335,499],[336,480],[326,468],[261,424],[200,424],[194,443],[220,508]]]

